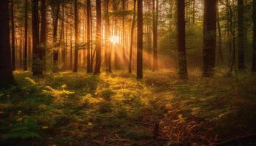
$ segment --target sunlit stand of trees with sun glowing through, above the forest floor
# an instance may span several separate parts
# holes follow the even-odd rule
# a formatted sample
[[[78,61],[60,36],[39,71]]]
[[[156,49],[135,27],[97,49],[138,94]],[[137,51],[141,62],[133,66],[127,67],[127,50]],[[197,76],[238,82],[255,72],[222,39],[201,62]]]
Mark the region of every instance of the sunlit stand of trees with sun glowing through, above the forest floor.
[[[97,74],[136,69],[139,78],[143,69],[177,68],[187,78],[187,69],[211,77],[220,68],[232,75],[254,63],[251,1],[219,1],[218,7],[202,0],[140,2],[10,1],[12,68],[34,74],[64,71],[67,64]]]

